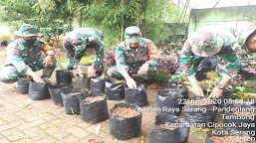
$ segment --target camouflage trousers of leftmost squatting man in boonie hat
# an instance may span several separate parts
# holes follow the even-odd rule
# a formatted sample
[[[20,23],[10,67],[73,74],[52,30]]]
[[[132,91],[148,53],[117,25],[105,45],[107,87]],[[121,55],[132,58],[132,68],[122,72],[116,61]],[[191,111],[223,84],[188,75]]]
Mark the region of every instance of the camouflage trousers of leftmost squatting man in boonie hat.
[[[32,71],[39,71],[39,70],[44,70],[44,71],[49,71],[50,72],[50,76],[52,74],[52,72],[55,70],[56,68],[56,59],[53,58],[53,63],[52,65],[45,67],[45,64],[43,64],[44,59],[40,59],[39,61],[37,61],[37,63],[33,66],[29,65],[29,67],[31,68]],[[44,74],[43,71],[43,74]],[[6,65],[1,71],[0,71],[0,81],[5,82],[5,83],[12,83],[15,82],[17,80],[18,76],[21,76],[23,74],[21,74],[20,72],[17,71],[17,69],[12,66],[12,65]]]

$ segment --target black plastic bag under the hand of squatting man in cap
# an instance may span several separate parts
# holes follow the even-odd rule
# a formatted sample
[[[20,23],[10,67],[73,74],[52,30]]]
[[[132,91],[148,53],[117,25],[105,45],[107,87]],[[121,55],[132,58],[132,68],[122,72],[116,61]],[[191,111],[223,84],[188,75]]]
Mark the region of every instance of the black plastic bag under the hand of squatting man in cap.
[[[138,106],[148,105],[146,91],[142,88],[125,88],[126,103]]]

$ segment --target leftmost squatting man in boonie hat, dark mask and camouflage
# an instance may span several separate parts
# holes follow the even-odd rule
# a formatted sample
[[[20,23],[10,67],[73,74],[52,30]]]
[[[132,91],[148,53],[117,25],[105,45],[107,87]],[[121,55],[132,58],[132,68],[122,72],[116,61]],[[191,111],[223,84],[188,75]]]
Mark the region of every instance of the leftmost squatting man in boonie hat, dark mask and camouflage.
[[[38,37],[35,26],[25,24],[19,31],[15,32],[19,37],[16,41],[8,45],[7,61],[2,71],[0,80],[11,83],[17,80],[19,75],[30,75],[37,82],[44,82],[42,78],[49,78],[56,68],[54,50]],[[45,52],[46,57],[41,58],[41,52]],[[34,71],[43,69],[40,77]]]

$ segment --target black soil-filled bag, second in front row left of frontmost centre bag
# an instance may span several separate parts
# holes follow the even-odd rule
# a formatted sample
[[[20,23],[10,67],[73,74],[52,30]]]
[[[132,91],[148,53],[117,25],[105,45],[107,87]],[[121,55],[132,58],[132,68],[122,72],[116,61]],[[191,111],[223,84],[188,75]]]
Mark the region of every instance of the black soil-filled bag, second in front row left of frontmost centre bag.
[[[70,93],[81,92],[76,95]],[[62,90],[64,108],[67,114],[80,114],[80,96],[88,94],[87,89],[65,88]]]

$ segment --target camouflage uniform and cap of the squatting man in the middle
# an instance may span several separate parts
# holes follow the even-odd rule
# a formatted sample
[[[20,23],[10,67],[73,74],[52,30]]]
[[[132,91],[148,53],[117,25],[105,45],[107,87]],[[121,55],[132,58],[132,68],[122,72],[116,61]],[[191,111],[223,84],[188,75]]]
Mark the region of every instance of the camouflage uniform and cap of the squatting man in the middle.
[[[151,74],[156,70],[156,65],[160,61],[160,56],[158,54],[157,48],[152,41],[140,37],[141,33],[137,27],[128,27],[126,29],[126,36],[130,43],[139,42],[137,48],[130,48],[128,41],[124,41],[116,48],[116,63],[117,66],[112,67],[108,70],[108,74],[116,77],[122,78],[123,75],[120,73],[122,70],[128,71],[129,74],[137,74],[137,71],[143,64],[148,64],[150,67],[146,74],[141,74],[140,76],[147,79],[148,74]],[[132,37],[132,38],[130,38]]]

